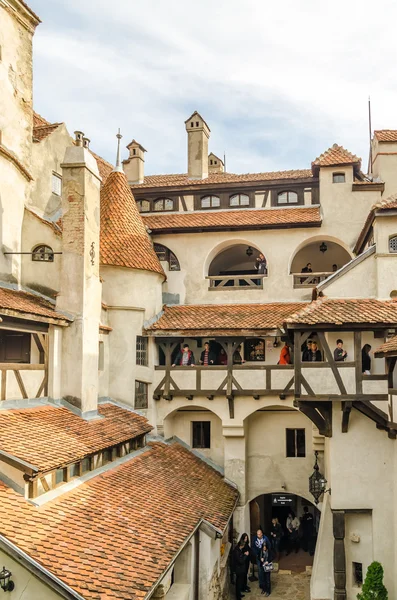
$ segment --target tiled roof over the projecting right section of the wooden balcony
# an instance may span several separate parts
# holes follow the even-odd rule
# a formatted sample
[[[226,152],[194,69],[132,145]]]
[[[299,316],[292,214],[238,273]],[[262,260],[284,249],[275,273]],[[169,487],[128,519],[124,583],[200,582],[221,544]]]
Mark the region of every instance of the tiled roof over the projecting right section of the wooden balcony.
[[[397,301],[320,298],[286,319],[287,324],[397,324]]]

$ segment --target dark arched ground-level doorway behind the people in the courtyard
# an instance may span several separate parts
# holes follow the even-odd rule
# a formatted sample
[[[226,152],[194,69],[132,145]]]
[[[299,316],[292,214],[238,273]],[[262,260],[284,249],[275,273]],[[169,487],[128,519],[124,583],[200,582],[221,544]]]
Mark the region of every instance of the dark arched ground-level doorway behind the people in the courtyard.
[[[288,515],[293,512],[300,522],[297,535],[291,537],[287,530]],[[307,514],[308,517],[304,515]],[[312,517],[312,519],[311,519]],[[306,571],[313,565],[314,553],[321,513],[306,498],[292,493],[261,494],[250,502],[251,536],[255,536],[258,528],[271,539],[272,519],[277,518],[283,536],[280,542],[279,568],[294,573]]]

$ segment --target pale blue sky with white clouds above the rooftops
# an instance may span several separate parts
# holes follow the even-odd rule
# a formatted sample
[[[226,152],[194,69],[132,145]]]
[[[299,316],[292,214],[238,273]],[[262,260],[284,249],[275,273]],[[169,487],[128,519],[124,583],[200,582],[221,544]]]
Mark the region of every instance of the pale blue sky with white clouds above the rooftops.
[[[116,133],[145,173],[187,170],[184,121],[235,173],[310,168],[333,143],[368,160],[397,129],[395,0],[28,0],[34,107],[114,163]]]

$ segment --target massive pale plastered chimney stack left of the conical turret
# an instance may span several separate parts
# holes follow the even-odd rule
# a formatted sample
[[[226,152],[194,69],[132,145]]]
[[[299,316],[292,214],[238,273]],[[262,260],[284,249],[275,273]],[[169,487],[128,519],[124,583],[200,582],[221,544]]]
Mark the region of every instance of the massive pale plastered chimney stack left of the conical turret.
[[[80,134],[76,134],[76,145],[66,149],[61,164],[63,236],[56,306],[74,320],[62,331],[59,395],[90,418],[98,406],[101,179]]]

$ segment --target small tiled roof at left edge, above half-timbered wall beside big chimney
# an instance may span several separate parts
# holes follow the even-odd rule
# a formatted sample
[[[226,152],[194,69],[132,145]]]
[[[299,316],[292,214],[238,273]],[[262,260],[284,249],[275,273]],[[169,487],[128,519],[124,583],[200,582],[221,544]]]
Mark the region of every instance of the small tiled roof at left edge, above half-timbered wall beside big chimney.
[[[71,319],[55,310],[54,304],[42,296],[0,287],[0,314],[13,314],[21,319],[68,322]]]

